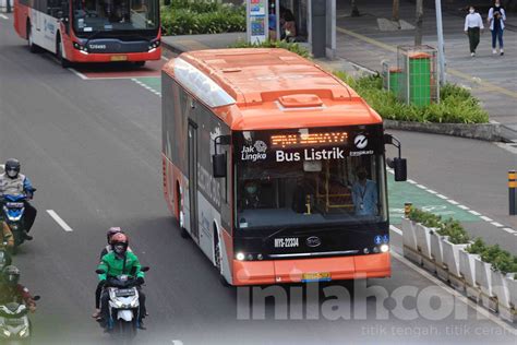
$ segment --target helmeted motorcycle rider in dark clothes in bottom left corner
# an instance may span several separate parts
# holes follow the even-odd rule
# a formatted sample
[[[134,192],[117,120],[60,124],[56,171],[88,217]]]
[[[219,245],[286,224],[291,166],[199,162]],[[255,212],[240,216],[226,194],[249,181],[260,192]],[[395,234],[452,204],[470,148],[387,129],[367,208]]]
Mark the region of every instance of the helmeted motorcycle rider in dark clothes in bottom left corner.
[[[36,311],[36,301],[28,289],[19,283],[20,270],[16,266],[9,265],[2,270],[0,281],[0,305],[9,302],[24,302],[31,312]]]

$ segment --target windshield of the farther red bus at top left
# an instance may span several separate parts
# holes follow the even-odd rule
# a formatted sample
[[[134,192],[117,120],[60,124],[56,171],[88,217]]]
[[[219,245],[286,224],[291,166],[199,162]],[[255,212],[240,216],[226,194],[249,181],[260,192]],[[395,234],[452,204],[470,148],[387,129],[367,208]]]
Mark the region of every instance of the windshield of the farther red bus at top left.
[[[73,25],[77,34],[111,31],[156,29],[156,0],[76,0]]]

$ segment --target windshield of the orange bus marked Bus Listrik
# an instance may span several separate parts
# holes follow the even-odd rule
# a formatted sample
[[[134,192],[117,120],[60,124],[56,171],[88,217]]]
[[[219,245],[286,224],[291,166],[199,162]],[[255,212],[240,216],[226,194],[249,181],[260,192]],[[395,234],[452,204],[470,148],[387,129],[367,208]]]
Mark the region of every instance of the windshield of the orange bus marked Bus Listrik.
[[[356,151],[361,152],[356,156],[347,145],[297,147],[290,152],[268,147],[263,148],[264,159],[253,156],[250,146],[238,147],[236,227],[245,230],[386,222],[383,152]]]

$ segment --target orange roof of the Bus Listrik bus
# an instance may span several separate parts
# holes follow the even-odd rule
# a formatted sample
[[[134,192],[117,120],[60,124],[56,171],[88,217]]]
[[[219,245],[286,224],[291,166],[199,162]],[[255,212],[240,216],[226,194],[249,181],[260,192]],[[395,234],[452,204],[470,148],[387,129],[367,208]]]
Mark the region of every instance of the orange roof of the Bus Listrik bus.
[[[164,71],[236,130],[382,122],[347,84],[285,49],[190,51]]]

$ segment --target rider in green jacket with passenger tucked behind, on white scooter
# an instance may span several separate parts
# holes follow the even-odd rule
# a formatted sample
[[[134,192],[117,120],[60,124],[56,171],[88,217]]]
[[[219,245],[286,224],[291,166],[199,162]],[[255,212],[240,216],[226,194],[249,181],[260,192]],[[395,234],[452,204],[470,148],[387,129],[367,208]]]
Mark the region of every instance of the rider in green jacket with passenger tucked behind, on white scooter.
[[[139,312],[139,326],[143,330],[142,319],[146,314],[145,309],[145,295],[142,293],[141,286],[144,284],[144,272],[141,271],[139,258],[131,251],[128,250],[129,239],[123,233],[117,233],[111,237],[111,252],[108,252],[100,260],[100,264],[97,270],[101,270],[105,273],[98,274],[99,283],[103,286],[107,285],[109,277],[116,277],[119,275],[130,275],[136,277],[139,284],[139,298],[140,298],[140,312]],[[109,292],[103,290],[100,296],[100,324],[104,328],[108,325],[109,319]]]

